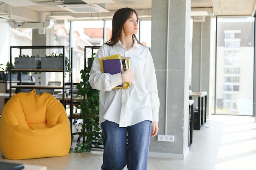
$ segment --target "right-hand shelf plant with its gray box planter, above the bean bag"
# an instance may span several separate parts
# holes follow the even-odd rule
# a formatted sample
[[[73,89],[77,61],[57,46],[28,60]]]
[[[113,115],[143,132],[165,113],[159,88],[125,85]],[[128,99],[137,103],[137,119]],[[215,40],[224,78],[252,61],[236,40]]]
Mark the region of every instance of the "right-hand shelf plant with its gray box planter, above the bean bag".
[[[45,57],[41,57],[41,68],[42,69],[63,69],[63,58],[65,58],[65,70],[71,71],[70,68],[70,60],[63,54],[54,54],[45,55]]]

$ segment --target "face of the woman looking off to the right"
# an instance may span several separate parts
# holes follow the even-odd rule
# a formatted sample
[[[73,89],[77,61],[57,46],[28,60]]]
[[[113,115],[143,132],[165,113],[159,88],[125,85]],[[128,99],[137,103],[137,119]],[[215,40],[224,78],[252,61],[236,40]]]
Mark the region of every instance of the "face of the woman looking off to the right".
[[[131,17],[124,23],[123,31],[127,36],[138,33],[138,18],[133,12]],[[123,32],[122,31],[122,32]]]

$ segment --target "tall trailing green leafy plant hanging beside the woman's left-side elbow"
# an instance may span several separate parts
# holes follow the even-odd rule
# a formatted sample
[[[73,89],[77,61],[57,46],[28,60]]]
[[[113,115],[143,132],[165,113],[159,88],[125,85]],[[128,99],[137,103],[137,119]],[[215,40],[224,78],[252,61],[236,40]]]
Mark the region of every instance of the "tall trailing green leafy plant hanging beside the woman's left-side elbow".
[[[92,54],[91,60],[94,60],[94,54]],[[80,118],[83,122],[79,124],[81,130],[80,135],[85,137],[83,143],[77,144],[71,151],[74,152],[90,152],[92,145],[95,148],[102,146],[101,128],[99,127],[99,91],[93,89],[89,84],[90,66],[80,71],[81,78],[83,79],[78,85],[78,93],[82,96],[78,102],[80,112]]]

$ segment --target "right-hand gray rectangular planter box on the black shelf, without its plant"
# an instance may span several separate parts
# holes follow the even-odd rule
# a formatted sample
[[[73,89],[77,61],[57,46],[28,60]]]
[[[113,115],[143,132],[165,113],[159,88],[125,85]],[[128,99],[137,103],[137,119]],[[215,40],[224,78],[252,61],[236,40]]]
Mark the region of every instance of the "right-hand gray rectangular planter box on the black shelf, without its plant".
[[[63,57],[41,57],[42,69],[63,69]]]

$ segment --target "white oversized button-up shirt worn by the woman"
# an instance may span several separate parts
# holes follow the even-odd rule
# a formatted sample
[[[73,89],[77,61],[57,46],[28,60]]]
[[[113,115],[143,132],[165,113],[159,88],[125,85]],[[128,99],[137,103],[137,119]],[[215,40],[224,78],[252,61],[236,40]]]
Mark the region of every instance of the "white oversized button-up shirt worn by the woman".
[[[114,54],[130,57],[133,79],[128,89],[112,89],[122,84],[121,73],[101,73],[99,58]],[[151,53],[145,46],[135,41],[132,48],[126,50],[120,41],[114,46],[103,44],[94,58],[89,82],[92,88],[100,91],[100,124],[108,120],[120,127],[127,127],[144,120],[158,121],[159,97],[155,67]]]

